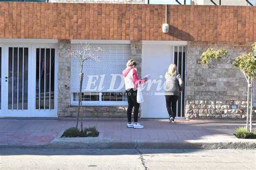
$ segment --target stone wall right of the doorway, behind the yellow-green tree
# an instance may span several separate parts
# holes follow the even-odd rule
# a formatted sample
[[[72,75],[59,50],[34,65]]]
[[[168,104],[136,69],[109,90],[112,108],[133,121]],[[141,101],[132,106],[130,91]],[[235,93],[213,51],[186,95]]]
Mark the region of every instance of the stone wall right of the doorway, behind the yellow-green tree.
[[[232,59],[251,52],[252,43],[189,42],[187,49],[186,117],[245,118],[247,82]],[[212,61],[211,68],[197,64],[207,48],[226,49],[221,61]],[[228,59],[230,58],[230,59]],[[254,116],[256,112],[254,110]]]

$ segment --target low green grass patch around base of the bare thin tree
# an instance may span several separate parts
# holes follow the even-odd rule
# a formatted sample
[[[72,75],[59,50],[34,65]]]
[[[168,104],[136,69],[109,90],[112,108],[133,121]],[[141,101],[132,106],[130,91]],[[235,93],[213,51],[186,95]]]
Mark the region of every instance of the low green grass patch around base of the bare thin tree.
[[[79,138],[79,137],[98,137],[99,131],[95,127],[85,128],[80,131],[76,127],[66,129],[62,134],[62,138]]]

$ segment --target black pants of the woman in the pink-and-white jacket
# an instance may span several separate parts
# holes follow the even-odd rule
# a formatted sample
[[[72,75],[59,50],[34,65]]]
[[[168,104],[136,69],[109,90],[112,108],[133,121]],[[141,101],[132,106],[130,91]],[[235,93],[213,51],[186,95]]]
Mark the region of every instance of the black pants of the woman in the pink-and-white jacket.
[[[138,114],[139,114],[139,103],[137,103],[137,90],[133,89],[126,90],[127,98],[128,98],[128,109],[127,109],[127,118],[128,122],[132,122],[132,108],[134,122],[138,122]]]

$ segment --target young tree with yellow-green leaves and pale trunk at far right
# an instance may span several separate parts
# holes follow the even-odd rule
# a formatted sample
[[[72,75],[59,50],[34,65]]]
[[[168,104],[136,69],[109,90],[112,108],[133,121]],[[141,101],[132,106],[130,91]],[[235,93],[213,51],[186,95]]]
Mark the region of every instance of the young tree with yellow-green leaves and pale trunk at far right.
[[[252,45],[254,55],[256,55],[256,43]],[[210,60],[220,60],[223,56],[227,55],[225,49],[219,49],[214,51],[212,48],[208,48],[206,52],[201,55],[201,64],[210,67]],[[249,131],[249,108],[250,109],[250,132],[252,131],[252,103],[253,103],[253,82],[255,79],[255,69],[256,69],[256,56],[253,53],[242,54],[233,60],[233,65],[240,69],[245,75],[247,86],[247,118],[246,118],[246,129]],[[249,102],[249,97],[251,96],[251,105]]]

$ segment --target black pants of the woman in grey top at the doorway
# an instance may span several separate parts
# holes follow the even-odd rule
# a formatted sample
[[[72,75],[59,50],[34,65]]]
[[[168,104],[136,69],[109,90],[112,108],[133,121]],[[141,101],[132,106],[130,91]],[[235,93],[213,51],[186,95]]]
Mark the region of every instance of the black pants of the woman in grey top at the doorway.
[[[176,96],[176,95],[165,96],[166,109],[168,111],[169,116],[173,117],[173,119],[175,118],[175,115],[176,115],[178,98],[179,96]]]

